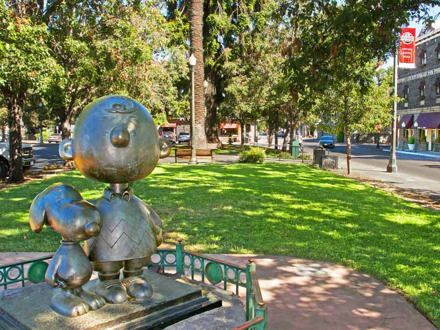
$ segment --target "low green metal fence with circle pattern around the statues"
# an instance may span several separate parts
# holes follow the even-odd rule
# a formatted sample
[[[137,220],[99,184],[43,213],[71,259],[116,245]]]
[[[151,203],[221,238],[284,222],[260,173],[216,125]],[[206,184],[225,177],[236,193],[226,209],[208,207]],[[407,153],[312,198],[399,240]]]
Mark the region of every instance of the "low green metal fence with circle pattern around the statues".
[[[46,260],[52,255],[40,259],[32,259],[15,264],[0,265],[0,286],[7,289],[14,283],[25,281],[38,283],[44,281],[47,269]],[[245,267],[227,263],[215,258],[210,258],[198,253],[184,250],[184,245],[179,242],[176,249],[158,249],[153,255],[153,261],[148,267],[160,266],[162,272],[166,268],[176,269],[176,273],[191,276],[198,274],[201,282],[213,285],[222,285],[226,290],[228,283],[235,286],[235,293],[239,294],[239,288],[246,289],[246,320],[247,322],[234,330],[265,330],[266,329],[266,305],[264,304],[260,286],[258,284],[256,265],[252,259]],[[186,270],[186,272],[185,272]]]

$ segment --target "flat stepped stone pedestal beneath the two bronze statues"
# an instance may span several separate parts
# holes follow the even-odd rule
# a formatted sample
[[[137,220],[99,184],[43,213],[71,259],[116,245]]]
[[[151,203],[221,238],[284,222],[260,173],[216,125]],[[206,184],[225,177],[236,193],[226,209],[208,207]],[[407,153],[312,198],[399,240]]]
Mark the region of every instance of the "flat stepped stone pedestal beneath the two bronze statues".
[[[198,286],[152,271],[145,276],[153,287],[149,302],[106,304],[87,314],[66,318],[49,308],[58,290],[46,283],[0,292],[0,329],[163,329],[183,319],[221,307],[221,300],[202,294]],[[94,281],[85,287],[91,291]]]

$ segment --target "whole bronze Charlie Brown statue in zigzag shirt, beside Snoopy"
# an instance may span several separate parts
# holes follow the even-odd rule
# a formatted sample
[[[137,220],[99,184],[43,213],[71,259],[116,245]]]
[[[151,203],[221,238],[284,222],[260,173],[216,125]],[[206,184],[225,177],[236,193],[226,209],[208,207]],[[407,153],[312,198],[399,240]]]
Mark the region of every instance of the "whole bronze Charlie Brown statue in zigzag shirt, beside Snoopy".
[[[150,113],[120,95],[89,104],[75,123],[73,139],[60,144],[60,155],[73,160],[81,173],[109,183],[102,197],[89,200],[102,225],[99,234],[84,243],[98,271],[94,292],[107,303],[122,304],[127,295],[145,301],[153,295],[143,267],[162,242],[162,221],[133,195],[129,183],[148,176],[159,158],[169,154],[170,146],[159,138]]]

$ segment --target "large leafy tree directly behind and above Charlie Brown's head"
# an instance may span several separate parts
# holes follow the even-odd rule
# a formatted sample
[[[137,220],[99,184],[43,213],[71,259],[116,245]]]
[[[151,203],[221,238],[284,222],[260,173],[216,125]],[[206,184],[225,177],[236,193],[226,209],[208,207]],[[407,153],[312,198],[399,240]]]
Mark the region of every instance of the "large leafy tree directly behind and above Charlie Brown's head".
[[[187,73],[184,47],[167,47],[171,31],[153,2],[66,1],[47,22],[63,70],[45,99],[61,120],[63,138],[70,136],[70,121],[103,94],[133,97],[154,116],[186,109],[176,89]]]

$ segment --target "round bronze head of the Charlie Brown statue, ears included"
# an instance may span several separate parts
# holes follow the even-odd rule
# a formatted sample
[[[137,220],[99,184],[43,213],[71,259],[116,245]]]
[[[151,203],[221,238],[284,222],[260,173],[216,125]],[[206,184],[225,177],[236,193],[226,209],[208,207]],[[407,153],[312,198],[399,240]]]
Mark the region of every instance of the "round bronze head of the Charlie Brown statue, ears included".
[[[62,158],[73,160],[88,178],[107,183],[148,176],[170,151],[148,110],[121,95],[90,103],[76,120],[73,138],[60,144]]]

